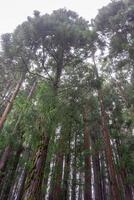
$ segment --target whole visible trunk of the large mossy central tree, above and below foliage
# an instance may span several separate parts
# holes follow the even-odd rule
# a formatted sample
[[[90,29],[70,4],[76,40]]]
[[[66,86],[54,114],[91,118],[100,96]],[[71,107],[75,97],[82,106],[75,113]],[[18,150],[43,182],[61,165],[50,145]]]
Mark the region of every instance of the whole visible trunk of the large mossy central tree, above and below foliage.
[[[63,68],[63,57],[62,57],[62,62],[57,63],[57,71],[53,83],[54,97],[56,97],[58,93],[62,68]],[[25,191],[22,198],[23,200],[41,199],[41,187],[42,187],[44,168],[45,168],[45,162],[47,158],[48,145],[50,139],[51,139],[50,135],[49,136],[45,135],[43,141],[41,141],[40,147],[36,153],[33,168],[26,180]]]

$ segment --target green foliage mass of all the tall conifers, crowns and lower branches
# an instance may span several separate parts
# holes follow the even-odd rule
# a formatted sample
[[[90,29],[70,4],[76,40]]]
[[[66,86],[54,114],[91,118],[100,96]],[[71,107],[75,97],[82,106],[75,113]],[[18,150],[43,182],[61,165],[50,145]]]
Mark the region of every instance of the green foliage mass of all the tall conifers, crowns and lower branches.
[[[132,184],[133,10],[131,1],[127,6],[123,1],[113,1],[99,10],[91,25],[70,10],[59,9],[45,15],[35,10],[34,16],[28,17],[13,34],[2,36],[0,77],[3,83],[8,77],[12,83],[15,77],[12,83],[15,85],[22,71],[27,72],[0,135],[0,150],[8,144],[13,149],[19,145],[24,147],[20,168],[26,163],[27,168],[32,169],[32,159],[28,160],[28,155],[30,158],[36,155],[45,136],[49,138],[47,164],[61,155],[63,158],[69,155],[70,160],[75,156],[76,163],[71,161],[71,168],[79,174],[84,172],[85,157],[98,155],[100,167],[107,168],[105,125],[110,132],[116,170],[121,173],[125,169],[128,175],[125,181]],[[28,99],[29,88],[35,79],[36,90]],[[6,95],[9,97],[12,92],[13,87],[8,90],[7,84],[5,88],[0,86],[0,93],[5,95],[0,99],[2,110],[8,101]],[[104,106],[104,111],[100,105]],[[86,150],[85,106],[90,139],[90,148]],[[62,166],[58,167],[62,170]],[[50,169],[46,168],[47,173]],[[98,173],[102,177],[101,171]],[[107,176],[105,169],[103,173]],[[109,185],[110,181],[107,187]]]

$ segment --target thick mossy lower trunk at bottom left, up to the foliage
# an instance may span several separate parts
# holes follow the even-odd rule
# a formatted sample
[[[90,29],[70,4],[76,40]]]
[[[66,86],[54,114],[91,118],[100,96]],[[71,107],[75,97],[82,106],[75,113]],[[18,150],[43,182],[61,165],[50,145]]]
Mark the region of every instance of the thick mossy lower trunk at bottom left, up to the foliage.
[[[45,135],[36,153],[34,164],[26,180],[23,200],[40,200],[44,166],[47,157],[49,137]]]

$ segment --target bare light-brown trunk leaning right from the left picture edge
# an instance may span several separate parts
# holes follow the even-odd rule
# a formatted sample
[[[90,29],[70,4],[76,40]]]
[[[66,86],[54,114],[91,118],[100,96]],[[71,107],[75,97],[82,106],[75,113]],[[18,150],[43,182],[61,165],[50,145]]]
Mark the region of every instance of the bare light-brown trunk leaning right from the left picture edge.
[[[0,129],[2,129],[3,125],[4,125],[4,122],[6,121],[6,118],[8,116],[8,113],[10,112],[10,110],[12,109],[12,106],[13,106],[13,102],[14,102],[14,99],[16,98],[19,90],[20,90],[20,87],[22,85],[22,82],[24,80],[24,75],[21,76],[21,79],[19,80],[19,82],[17,83],[16,85],[16,88],[11,96],[11,99],[10,101],[8,102],[5,110],[4,110],[4,113],[2,114],[1,116],[1,119],[0,119]]]

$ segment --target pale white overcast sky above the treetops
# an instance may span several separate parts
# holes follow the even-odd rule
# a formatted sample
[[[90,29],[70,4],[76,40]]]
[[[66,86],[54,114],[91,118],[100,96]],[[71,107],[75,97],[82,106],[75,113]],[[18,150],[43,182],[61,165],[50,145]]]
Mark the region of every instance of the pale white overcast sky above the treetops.
[[[0,0],[0,35],[13,32],[27,16],[32,16],[34,10],[45,14],[67,8],[90,20],[96,16],[98,9],[109,2],[110,0]]]

